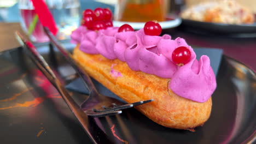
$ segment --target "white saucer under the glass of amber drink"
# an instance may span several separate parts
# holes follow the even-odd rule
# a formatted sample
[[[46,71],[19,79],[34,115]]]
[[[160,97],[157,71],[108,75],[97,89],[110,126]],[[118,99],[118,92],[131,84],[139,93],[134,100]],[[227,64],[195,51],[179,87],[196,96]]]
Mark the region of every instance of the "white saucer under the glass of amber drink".
[[[161,21],[159,24],[161,25],[162,29],[167,29],[167,28],[173,28],[181,25],[182,19],[176,18],[174,20],[170,21]],[[114,27],[120,27],[124,25],[125,23],[129,24],[132,26],[133,29],[141,29],[144,27],[146,22],[126,22],[126,21],[113,21],[113,26]]]

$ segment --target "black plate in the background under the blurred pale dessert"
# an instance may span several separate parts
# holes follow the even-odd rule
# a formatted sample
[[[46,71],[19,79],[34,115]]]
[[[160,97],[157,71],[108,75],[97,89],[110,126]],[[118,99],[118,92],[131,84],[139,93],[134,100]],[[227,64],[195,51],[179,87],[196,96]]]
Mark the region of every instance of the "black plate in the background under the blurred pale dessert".
[[[256,22],[248,25],[228,25],[223,23],[182,20],[182,26],[196,33],[226,34],[237,37],[256,37]]]

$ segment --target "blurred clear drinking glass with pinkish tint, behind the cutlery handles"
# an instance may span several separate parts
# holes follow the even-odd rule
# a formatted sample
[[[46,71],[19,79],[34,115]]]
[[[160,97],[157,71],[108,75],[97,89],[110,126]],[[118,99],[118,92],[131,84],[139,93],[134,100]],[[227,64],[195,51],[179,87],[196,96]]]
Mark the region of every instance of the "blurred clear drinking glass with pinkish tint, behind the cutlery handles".
[[[56,37],[60,40],[69,39],[69,35],[80,25],[80,3],[78,0],[45,0],[59,29]],[[25,32],[29,33],[31,23],[36,21],[30,38],[36,43],[49,41],[31,0],[19,0],[20,23]]]

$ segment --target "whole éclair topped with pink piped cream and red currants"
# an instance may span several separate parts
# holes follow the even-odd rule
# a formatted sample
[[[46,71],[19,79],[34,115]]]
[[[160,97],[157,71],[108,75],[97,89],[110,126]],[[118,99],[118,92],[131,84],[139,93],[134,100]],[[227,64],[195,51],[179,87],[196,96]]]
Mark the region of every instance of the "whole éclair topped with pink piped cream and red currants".
[[[150,24],[151,23],[151,24]],[[136,109],[165,127],[190,129],[210,117],[216,78],[210,59],[196,60],[182,38],[159,34],[158,23],[94,31],[80,26],[72,35],[73,58],[127,103],[154,99]],[[145,34],[144,29],[150,29]],[[161,32],[160,32],[161,33]]]

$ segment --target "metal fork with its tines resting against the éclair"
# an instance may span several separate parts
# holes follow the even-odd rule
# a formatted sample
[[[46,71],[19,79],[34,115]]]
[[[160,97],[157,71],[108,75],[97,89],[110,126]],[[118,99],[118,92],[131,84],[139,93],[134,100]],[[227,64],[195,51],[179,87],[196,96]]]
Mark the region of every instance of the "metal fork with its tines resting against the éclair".
[[[89,98],[86,101],[84,101],[84,103],[81,105],[82,109],[85,111],[85,113],[88,116],[103,117],[103,116],[116,115],[116,114],[120,114],[122,112],[121,110],[128,109],[133,106],[146,104],[153,101],[153,99],[150,99],[150,100],[144,100],[144,101],[137,101],[131,104],[125,104],[119,100],[109,98],[105,95],[98,93],[89,75],[84,72],[84,70],[82,69],[82,66],[79,63],[73,60],[71,53],[69,53],[61,45],[59,40],[56,39],[56,37],[49,31],[47,27],[44,27],[44,32],[46,33],[46,35],[48,35],[51,43],[53,43],[53,45],[55,45],[57,49],[59,49],[59,51],[66,58],[69,64],[71,64],[74,70],[82,78],[85,86],[88,87],[90,91]]]

